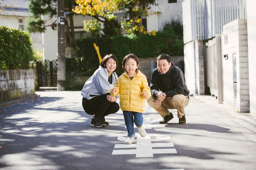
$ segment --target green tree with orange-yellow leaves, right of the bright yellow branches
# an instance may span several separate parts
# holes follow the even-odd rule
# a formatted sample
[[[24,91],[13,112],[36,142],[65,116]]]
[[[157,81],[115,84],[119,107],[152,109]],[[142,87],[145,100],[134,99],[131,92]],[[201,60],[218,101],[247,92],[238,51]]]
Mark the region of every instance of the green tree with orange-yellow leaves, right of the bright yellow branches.
[[[150,8],[151,5],[157,5],[155,0],[115,0],[115,2],[118,9],[125,13],[121,26],[126,30],[126,33],[137,35],[147,32],[142,26],[141,17],[153,14]]]

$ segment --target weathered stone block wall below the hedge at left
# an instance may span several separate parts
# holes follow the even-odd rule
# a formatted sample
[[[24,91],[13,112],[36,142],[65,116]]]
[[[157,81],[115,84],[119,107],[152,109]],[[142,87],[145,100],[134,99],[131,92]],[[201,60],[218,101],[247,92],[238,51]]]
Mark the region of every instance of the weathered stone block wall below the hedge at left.
[[[35,94],[33,70],[0,70],[0,103]]]

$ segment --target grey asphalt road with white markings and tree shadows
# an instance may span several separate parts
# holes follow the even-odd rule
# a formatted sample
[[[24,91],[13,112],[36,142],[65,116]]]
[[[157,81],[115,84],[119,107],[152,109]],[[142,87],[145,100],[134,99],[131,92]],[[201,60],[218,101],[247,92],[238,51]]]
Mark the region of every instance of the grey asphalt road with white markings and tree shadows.
[[[122,111],[90,126],[79,91],[36,92],[38,98],[0,108],[2,170],[255,170],[256,133],[191,96],[186,124],[168,124],[146,105],[146,137],[127,137]],[[100,104],[99,104],[100,107]]]

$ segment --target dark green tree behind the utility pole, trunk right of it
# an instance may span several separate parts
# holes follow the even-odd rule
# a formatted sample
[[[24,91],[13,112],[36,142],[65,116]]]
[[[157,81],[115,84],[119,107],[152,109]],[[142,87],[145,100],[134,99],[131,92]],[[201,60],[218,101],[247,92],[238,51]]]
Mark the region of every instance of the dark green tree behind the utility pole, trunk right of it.
[[[42,15],[49,16],[50,19],[53,19],[57,15],[57,0],[29,0],[29,11],[32,13],[32,16],[28,17],[27,30],[30,33],[44,33],[47,26],[52,26],[56,22],[56,19],[53,20],[52,24],[47,25],[46,21],[43,20]],[[65,0],[65,13],[67,13],[65,18],[65,31],[67,33],[68,40],[67,46],[74,45],[74,20],[72,9],[74,7],[74,0]],[[67,22],[69,19],[69,23]]]

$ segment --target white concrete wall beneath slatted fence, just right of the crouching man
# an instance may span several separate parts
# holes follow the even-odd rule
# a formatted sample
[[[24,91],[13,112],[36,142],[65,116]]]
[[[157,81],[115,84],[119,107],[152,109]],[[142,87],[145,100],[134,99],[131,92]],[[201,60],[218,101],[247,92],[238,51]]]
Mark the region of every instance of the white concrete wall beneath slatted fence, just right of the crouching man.
[[[184,45],[185,81],[190,94],[204,95],[203,41],[195,40]]]

